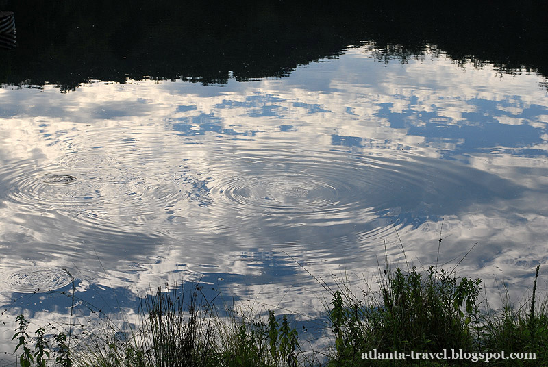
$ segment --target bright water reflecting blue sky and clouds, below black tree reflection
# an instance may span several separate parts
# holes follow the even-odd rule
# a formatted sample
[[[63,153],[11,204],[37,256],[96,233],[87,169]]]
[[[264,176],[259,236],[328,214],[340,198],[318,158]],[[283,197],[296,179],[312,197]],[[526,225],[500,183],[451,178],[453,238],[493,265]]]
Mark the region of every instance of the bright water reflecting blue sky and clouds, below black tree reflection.
[[[548,260],[543,77],[434,51],[385,64],[368,44],[320,61],[222,86],[0,88],[0,351],[21,310],[67,320],[41,293],[70,288],[62,268],[112,311],[201,279],[313,318],[322,288],[295,260],[371,279],[385,241],[403,264],[398,233],[434,264],[441,230],[440,264],[479,241],[460,275],[530,288]]]

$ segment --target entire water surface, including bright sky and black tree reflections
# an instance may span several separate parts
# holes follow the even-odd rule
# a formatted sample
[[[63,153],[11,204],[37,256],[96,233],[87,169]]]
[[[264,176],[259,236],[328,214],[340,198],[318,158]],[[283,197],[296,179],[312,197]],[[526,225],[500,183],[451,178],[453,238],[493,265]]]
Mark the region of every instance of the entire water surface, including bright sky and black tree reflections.
[[[69,322],[64,269],[90,325],[197,281],[312,325],[310,274],[374,284],[385,255],[475,242],[460,275],[531,288],[547,5],[406,6],[0,0],[0,351],[18,312]]]

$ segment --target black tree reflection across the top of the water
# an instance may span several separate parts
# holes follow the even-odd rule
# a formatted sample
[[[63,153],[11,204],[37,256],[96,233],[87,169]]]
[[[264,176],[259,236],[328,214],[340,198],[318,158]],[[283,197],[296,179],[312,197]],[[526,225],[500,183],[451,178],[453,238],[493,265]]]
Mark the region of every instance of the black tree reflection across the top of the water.
[[[184,79],[224,84],[283,77],[368,41],[374,57],[421,58],[426,45],[457,63],[547,75],[542,1],[364,3],[285,1],[1,1],[16,13],[17,47],[0,53],[0,82],[77,88],[90,79]]]

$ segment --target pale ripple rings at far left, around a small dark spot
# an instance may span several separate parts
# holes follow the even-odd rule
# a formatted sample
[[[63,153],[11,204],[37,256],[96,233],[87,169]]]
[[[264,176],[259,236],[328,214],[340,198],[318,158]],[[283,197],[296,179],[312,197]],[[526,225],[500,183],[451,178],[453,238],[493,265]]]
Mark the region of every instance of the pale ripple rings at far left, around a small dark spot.
[[[100,170],[46,166],[8,181],[6,197],[34,213],[51,210],[88,225],[135,225],[186,201],[186,188],[169,173],[122,166]]]

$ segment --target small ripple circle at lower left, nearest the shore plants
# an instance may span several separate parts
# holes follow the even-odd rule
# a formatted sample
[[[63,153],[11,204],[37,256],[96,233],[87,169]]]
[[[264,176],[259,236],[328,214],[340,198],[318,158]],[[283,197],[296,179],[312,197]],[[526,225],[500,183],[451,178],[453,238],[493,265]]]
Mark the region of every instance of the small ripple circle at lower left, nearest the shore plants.
[[[72,279],[65,270],[35,266],[0,274],[0,285],[12,292],[47,292],[67,286]]]

